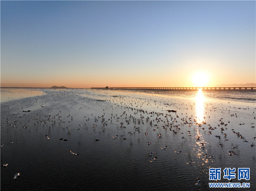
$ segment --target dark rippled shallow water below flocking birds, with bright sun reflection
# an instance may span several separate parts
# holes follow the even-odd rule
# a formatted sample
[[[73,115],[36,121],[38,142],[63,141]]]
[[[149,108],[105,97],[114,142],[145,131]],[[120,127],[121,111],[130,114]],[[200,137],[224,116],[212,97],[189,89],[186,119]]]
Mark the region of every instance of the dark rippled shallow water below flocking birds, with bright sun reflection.
[[[42,91],[44,95],[1,103],[1,164],[9,164],[1,168],[3,190],[219,190],[208,186],[213,182],[209,168],[250,168],[250,180],[233,182],[251,183],[242,190],[256,189],[256,150],[249,146],[256,137],[251,99],[255,92],[248,92],[244,101],[246,95],[238,92],[236,97],[234,91],[215,95],[202,91],[201,97],[189,90]],[[163,111],[170,109],[176,113]],[[209,125],[216,127],[212,134],[207,133]],[[237,155],[229,156],[229,150]],[[157,154],[150,157],[150,152]],[[206,153],[215,159],[205,159]],[[155,156],[156,163],[150,162]],[[190,160],[193,163],[187,164]],[[14,181],[17,172],[21,177]],[[201,187],[195,186],[197,177]],[[222,177],[218,182],[227,181]]]

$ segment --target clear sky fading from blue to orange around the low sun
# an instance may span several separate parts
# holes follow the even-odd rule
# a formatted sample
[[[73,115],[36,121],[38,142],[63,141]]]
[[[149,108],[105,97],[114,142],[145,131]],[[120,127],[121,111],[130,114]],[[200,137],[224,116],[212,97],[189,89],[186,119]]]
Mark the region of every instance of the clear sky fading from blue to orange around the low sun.
[[[1,87],[256,83],[256,1],[0,1]]]

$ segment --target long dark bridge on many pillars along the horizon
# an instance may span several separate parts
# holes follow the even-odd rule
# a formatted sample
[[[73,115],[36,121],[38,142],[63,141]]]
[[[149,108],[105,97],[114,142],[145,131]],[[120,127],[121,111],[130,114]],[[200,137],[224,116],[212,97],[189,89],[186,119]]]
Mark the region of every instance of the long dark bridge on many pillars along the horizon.
[[[251,89],[253,90],[253,88],[256,88],[256,87],[105,87],[105,88],[94,88],[94,89],[176,89],[176,90],[197,90],[197,89],[211,89],[211,90],[230,90],[230,89],[233,89],[233,90],[236,90],[236,89],[239,89],[239,90],[247,90],[248,89]]]

